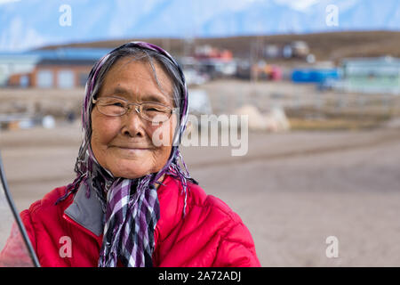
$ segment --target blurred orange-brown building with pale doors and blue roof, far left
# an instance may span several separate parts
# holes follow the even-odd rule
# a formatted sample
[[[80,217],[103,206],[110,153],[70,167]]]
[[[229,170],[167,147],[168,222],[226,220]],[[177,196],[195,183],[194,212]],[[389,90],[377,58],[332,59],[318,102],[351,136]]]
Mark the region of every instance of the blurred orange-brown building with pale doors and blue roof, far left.
[[[60,48],[26,53],[0,53],[0,86],[84,86],[94,62],[108,51],[93,48]]]

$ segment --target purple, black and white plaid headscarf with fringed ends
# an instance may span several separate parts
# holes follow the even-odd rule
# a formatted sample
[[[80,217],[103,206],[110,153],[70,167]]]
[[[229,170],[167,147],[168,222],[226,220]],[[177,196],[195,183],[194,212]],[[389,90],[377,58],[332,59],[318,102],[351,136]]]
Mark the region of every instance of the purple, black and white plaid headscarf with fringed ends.
[[[188,174],[188,168],[180,155],[178,143],[172,145],[170,157],[160,171],[137,179],[114,177],[107,169],[100,166],[93,155],[90,143],[91,112],[92,98],[96,95],[93,88],[99,79],[99,70],[110,54],[121,48],[130,47],[161,53],[176,66],[183,82],[180,90],[180,106],[177,106],[180,110],[179,142],[188,121],[188,88],[185,77],[179,64],[162,48],[144,42],[128,43],[106,54],[93,66],[85,86],[82,111],[84,140],[76,159],[76,179],[68,185],[66,194],[58,202],[66,199],[70,193],[75,193],[81,183],[88,186],[87,196],[90,195],[90,189],[95,191],[105,213],[103,243],[99,258],[101,267],[116,266],[118,259],[125,266],[152,266],[152,254],[155,247],[154,231],[160,216],[155,183],[159,183],[158,180],[164,174],[172,175],[180,180],[181,193],[185,195],[183,216],[186,211],[187,181],[191,180],[196,183]],[[107,197],[104,197],[105,192]]]

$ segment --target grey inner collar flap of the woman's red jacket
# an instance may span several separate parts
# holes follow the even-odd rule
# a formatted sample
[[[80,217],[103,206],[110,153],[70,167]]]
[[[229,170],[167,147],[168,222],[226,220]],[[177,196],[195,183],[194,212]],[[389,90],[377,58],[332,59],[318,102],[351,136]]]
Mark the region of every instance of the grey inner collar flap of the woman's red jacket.
[[[89,179],[87,184],[92,185],[92,180]],[[66,208],[64,214],[99,237],[103,232],[105,215],[95,191],[92,187],[89,188],[90,196],[86,197],[87,186],[81,183],[73,202]]]

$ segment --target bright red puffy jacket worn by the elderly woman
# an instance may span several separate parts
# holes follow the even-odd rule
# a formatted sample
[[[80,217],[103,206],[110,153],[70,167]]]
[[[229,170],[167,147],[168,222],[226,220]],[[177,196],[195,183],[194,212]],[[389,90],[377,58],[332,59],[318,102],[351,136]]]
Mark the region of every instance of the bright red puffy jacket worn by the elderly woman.
[[[260,266],[250,232],[224,202],[189,183],[186,216],[182,217],[180,183],[170,175],[163,183],[157,190],[160,219],[154,266]],[[97,266],[102,226],[87,208],[100,211],[100,202],[94,193],[90,199],[79,189],[75,197],[54,205],[65,189],[54,189],[20,213],[36,255],[42,266]],[[0,260],[10,257],[7,248],[12,243],[15,239],[10,237]]]

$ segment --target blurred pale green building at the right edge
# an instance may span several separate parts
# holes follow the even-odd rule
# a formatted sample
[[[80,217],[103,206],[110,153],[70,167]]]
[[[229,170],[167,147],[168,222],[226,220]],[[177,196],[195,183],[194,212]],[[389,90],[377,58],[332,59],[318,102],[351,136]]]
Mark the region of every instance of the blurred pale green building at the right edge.
[[[345,91],[400,94],[400,59],[354,58],[341,65]]]

